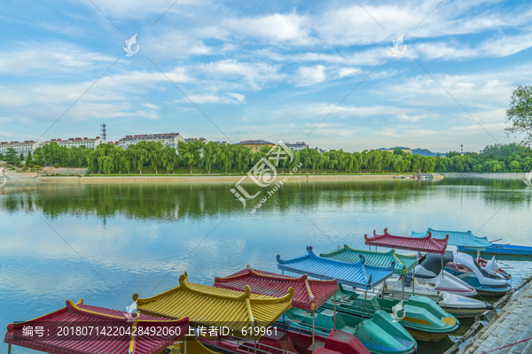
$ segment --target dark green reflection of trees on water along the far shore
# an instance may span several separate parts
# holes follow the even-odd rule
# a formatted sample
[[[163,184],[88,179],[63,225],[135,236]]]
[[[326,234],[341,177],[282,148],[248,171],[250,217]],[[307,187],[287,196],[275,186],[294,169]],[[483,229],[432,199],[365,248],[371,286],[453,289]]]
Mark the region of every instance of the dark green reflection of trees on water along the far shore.
[[[96,215],[103,218],[123,215],[136,219],[209,219],[245,212],[232,195],[229,183],[191,184],[78,184],[41,183],[34,186],[7,187],[0,198],[0,210],[16,212],[37,208],[52,219],[62,214]],[[248,199],[247,210],[254,207],[267,189],[253,183],[245,185],[255,199]],[[451,202],[480,197],[485,204],[526,207],[532,193],[521,181],[445,179],[443,181],[335,181],[286,183],[259,212],[316,210],[322,204],[336,207],[353,203],[382,207],[394,204],[402,208],[426,198],[444,196]]]

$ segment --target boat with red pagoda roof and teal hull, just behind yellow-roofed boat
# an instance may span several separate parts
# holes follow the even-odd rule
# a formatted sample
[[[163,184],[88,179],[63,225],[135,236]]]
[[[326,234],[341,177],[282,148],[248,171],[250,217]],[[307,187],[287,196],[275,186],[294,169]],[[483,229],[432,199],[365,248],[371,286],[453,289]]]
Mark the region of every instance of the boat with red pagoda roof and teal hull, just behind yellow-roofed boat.
[[[325,262],[336,261],[325,259]],[[249,286],[253,293],[269,296],[281,296],[286,294],[287,289],[293,289],[292,308],[284,313],[282,321],[278,320],[278,327],[312,331],[324,336],[340,330],[355,335],[368,350],[376,354],[413,353],[418,347],[408,331],[384,310],[376,311],[372,319],[363,319],[353,314],[337,313],[335,306],[332,309],[322,307],[327,300],[336,298],[336,279],[310,280],[307,274],[294,278],[247,266],[228,277],[215,278],[214,286],[239,291]]]

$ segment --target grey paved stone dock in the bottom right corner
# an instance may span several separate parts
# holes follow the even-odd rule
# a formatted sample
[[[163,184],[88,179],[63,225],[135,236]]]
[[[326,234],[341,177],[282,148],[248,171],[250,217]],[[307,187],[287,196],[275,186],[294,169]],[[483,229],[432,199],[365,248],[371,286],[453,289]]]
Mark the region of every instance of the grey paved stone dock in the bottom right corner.
[[[458,354],[483,353],[532,353],[532,282],[514,294],[497,315],[458,351]]]

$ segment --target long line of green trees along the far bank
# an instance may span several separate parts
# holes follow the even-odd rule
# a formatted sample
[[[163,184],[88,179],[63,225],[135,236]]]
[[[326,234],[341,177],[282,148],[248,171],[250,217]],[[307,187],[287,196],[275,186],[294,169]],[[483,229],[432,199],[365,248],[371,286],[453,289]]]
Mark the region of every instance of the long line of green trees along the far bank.
[[[87,167],[90,173],[247,173],[266,157],[270,147],[253,153],[243,145],[217,142],[179,142],[177,148],[160,142],[138,142],[123,150],[113,144],[100,144],[96,149],[67,148],[51,142],[28,154],[26,165],[55,167]],[[285,173],[301,163],[303,173],[497,173],[528,172],[532,169],[532,150],[520,144],[486,146],[479,153],[458,152],[446,156],[426,157],[382,150],[346,152],[317,150],[293,152],[293,161],[280,160],[278,172]],[[8,150],[9,163],[18,164],[16,152]]]

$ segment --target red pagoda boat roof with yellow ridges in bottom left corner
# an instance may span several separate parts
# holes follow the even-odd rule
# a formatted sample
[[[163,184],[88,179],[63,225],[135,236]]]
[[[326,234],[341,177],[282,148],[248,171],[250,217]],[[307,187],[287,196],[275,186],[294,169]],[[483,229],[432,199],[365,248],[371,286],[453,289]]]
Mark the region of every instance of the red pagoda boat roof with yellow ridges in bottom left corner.
[[[58,311],[10,324],[4,342],[9,352],[13,344],[52,354],[157,354],[188,333],[188,318],[137,316],[67,300]]]

